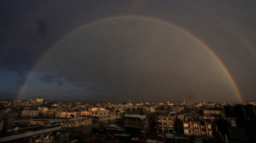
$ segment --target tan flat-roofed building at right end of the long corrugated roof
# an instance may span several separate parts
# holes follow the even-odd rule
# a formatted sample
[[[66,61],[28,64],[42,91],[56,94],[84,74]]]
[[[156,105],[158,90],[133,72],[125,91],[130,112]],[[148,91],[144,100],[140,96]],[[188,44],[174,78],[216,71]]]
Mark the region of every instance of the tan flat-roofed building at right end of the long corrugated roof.
[[[71,138],[88,134],[92,131],[92,118],[75,117],[68,119],[68,121],[63,121],[60,124],[60,130],[69,130]]]

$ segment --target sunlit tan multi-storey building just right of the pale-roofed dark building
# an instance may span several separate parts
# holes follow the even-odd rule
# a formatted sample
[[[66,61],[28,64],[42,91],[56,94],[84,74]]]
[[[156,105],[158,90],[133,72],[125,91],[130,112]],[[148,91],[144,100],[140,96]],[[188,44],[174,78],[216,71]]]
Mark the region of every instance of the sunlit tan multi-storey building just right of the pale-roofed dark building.
[[[176,112],[158,112],[155,120],[157,132],[162,130],[162,133],[174,130],[176,122]]]

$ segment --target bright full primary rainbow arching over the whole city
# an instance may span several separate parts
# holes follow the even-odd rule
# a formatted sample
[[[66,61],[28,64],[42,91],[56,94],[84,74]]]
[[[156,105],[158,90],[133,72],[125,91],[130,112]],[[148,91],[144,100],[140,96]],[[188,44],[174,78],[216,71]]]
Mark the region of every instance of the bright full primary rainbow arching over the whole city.
[[[171,24],[171,23],[168,23],[168,22],[165,22],[165,21],[162,21],[160,19],[157,19],[157,18],[148,18],[148,17],[144,17],[144,16],[116,16],[116,17],[108,17],[108,18],[104,18],[104,19],[99,19],[99,20],[96,20],[96,21],[93,21],[93,22],[90,22],[88,24],[85,24],[85,25],[82,25],[76,29],[74,29],[73,31],[69,32],[68,34],[66,34],[64,37],[62,37],[61,39],[59,39],[56,43],[54,43],[43,55],[42,57],[40,57],[40,59],[38,60],[38,62],[36,63],[36,65],[32,68],[32,71],[28,74],[26,80],[24,81],[24,84],[22,85],[19,93],[18,93],[18,97],[17,99],[20,99],[20,97],[22,96],[22,92],[25,90],[26,88],[26,83],[27,81],[29,80],[29,78],[31,77],[33,71],[36,69],[36,67],[38,67],[38,65],[40,64],[40,61],[42,61],[45,57],[45,55],[47,55],[51,49],[53,49],[56,45],[58,45],[59,43],[61,43],[64,39],[66,39],[70,34],[78,31],[79,29],[82,29],[84,27],[87,27],[87,26],[90,26],[90,25],[93,25],[93,24],[97,24],[99,22],[105,22],[105,21],[108,21],[108,20],[116,20],[116,19],[140,19],[140,20],[150,20],[150,21],[153,21],[153,22],[157,22],[157,23],[160,23],[160,24],[164,24],[164,25],[167,25],[167,26],[170,26],[182,33],[184,33],[185,35],[188,35],[189,37],[191,37],[192,39],[194,39],[194,41],[198,42],[202,47],[204,47],[204,49],[217,61],[217,63],[220,65],[220,67],[223,69],[223,71],[225,72],[226,76],[228,77],[228,79],[230,80],[237,96],[238,96],[238,99],[240,101],[243,102],[242,100],[242,95],[240,94],[239,92],[239,89],[238,89],[238,86],[236,85],[236,82],[234,81],[234,79],[232,78],[232,75],[230,74],[230,72],[228,71],[228,69],[225,67],[225,65],[222,63],[222,61],[220,60],[220,58],[203,42],[201,41],[200,39],[198,39],[196,36],[192,35],[190,32],[186,31],[185,29],[182,29],[181,27],[178,27],[177,25],[174,25],[174,24]]]

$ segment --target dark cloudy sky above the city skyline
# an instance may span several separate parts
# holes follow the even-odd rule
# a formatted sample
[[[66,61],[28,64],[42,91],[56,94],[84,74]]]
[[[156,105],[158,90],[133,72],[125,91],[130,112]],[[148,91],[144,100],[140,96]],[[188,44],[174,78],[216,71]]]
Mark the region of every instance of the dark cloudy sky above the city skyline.
[[[0,98],[256,100],[255,5],[0,1]]]

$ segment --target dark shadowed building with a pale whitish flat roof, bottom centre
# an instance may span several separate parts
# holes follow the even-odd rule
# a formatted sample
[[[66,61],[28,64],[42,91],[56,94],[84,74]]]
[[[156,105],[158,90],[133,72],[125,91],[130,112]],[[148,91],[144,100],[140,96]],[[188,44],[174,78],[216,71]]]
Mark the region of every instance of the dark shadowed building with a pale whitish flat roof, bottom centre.
[[[148,118],[145,115],[124,115],[124,128],[135,136],[144,136],[148,133]]]

